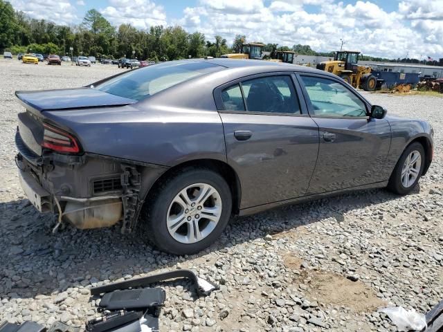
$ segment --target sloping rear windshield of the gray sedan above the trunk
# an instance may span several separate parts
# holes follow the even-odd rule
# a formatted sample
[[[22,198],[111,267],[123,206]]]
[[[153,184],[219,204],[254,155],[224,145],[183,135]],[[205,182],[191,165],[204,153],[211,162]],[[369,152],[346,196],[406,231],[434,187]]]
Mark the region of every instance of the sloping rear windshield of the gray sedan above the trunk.
[[[120,97],[142,100],[170,86],[223,68],[209,62],[164,62],[111,78],[96,86],[96,89]]]

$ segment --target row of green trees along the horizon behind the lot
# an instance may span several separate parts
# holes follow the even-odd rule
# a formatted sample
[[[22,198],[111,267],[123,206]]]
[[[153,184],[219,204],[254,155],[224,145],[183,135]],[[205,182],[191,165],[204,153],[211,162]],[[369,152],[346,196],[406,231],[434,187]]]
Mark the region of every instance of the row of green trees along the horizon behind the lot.
[[[213,40],[199,33],[188,33],[181,26],[152,26],[150,29],[137,29],[131,24],[112,26],[98,10],[89,10],[82,23],[77,26],[58,25],[44,19],[33,19],[24,12],[14,10],[8,1],[0,0],[0,53],[8,50],[17,53],[41,53],[71,55],[92,55],[102,58],[134,57],[154,61],[187,59],[188,57],[219,57],[226,53],[241,53],[246,44],[245,35],[236,35],[233,45],[216,35]],[[260,44],[264,44],[261,43]],[[293,50],[299,55],[319,55],[333,57],[334,52],[316,52],[309,45],[296,44],[278,46],[264,44],[264,50],[275,57],[278,50]],[[362,59],[383,62],[412,62],[418,59],[386,59],[365,55]],[[432,60],[426,64],[443,66]]]

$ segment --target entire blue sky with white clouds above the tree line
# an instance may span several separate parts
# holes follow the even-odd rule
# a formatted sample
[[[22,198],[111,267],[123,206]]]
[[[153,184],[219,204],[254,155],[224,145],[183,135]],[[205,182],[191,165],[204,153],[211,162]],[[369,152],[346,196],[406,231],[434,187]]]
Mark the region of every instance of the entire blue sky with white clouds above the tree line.
[[[30,17],[80,24],[96,8],[111,24],[180,25],[207,39],[236,34],[280,46],[340,47],[382,57],[443,57],[443,0],[10,0]]]

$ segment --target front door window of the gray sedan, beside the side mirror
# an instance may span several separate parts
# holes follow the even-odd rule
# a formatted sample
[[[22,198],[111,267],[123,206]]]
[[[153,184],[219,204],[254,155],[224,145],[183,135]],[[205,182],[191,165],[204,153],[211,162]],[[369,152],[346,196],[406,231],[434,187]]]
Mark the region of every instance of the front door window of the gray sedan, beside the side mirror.
[[[366,116],[365,103],[343,84],[321,77],[301,78],[314,116]]]

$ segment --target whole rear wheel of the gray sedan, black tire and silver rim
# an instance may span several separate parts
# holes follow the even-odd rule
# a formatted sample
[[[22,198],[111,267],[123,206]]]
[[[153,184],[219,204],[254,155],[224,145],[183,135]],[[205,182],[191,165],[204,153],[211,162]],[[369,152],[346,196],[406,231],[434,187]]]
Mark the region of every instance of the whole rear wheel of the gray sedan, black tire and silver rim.
[[[190,167],[154,189],[143,208],[148,239],[175,255],[192,255],[213,244],[229,221],[232,194],[224,178]]]

